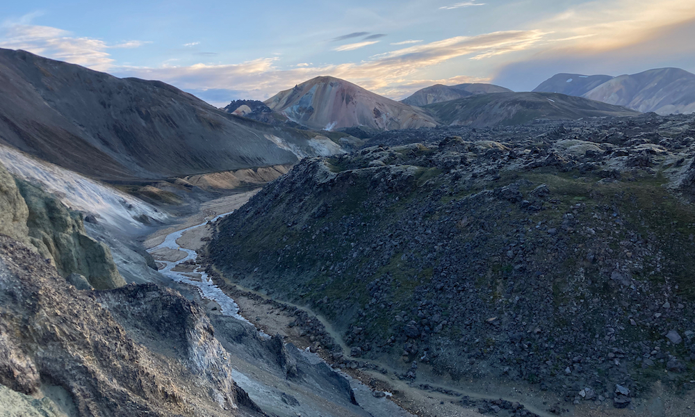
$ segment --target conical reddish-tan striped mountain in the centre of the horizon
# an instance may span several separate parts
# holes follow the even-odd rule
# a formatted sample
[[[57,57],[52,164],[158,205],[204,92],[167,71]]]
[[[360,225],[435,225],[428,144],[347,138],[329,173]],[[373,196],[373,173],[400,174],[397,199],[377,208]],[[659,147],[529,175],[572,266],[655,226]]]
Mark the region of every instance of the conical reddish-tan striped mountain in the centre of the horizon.
[[[341,129],[366,126],[393,130],[436,126],[419,108],[382,97],[364,88],[319,76],[265,101],[273,111],[310,129]]]

